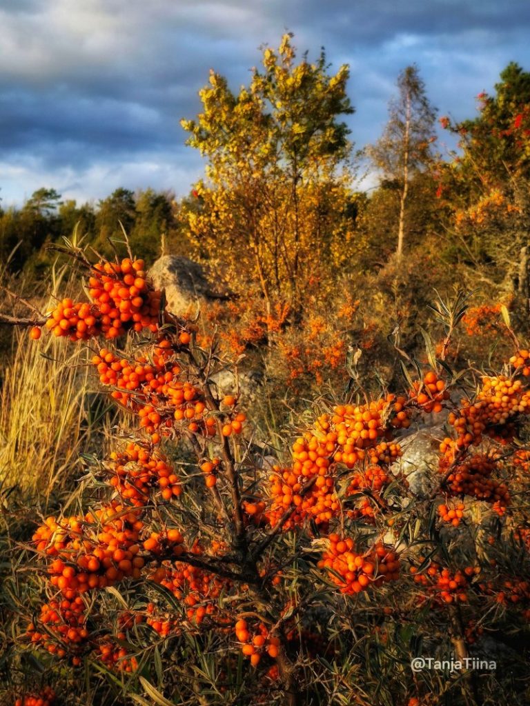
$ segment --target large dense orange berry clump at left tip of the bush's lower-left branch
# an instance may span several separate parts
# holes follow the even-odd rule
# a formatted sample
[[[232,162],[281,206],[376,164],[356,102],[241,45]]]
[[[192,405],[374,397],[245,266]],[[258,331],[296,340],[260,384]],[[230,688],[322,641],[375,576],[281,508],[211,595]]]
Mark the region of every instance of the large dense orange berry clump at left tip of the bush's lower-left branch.
[[[48,569],[50,582],[71,600],[125,577],[140,577],[145,563],[139,556],[142,528],[136,511],[112,501],[94,513],[64,517],[61,524],[48,517],[33,541],[37,551],[57,557]]]

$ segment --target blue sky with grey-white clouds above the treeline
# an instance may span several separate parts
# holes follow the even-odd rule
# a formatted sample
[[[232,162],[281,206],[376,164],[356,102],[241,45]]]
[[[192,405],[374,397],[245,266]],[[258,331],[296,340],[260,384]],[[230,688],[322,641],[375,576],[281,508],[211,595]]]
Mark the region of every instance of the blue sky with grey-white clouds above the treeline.
[[[413,62],[454,119],[510,61],[530,70],[528,0],[0,0],[1,205],[42,186],[95,203],[120,186],[188,193],[204,164],[179,120],[208,72],[238,90],[287,30],[300,54],[350,65],[358,148]]]

